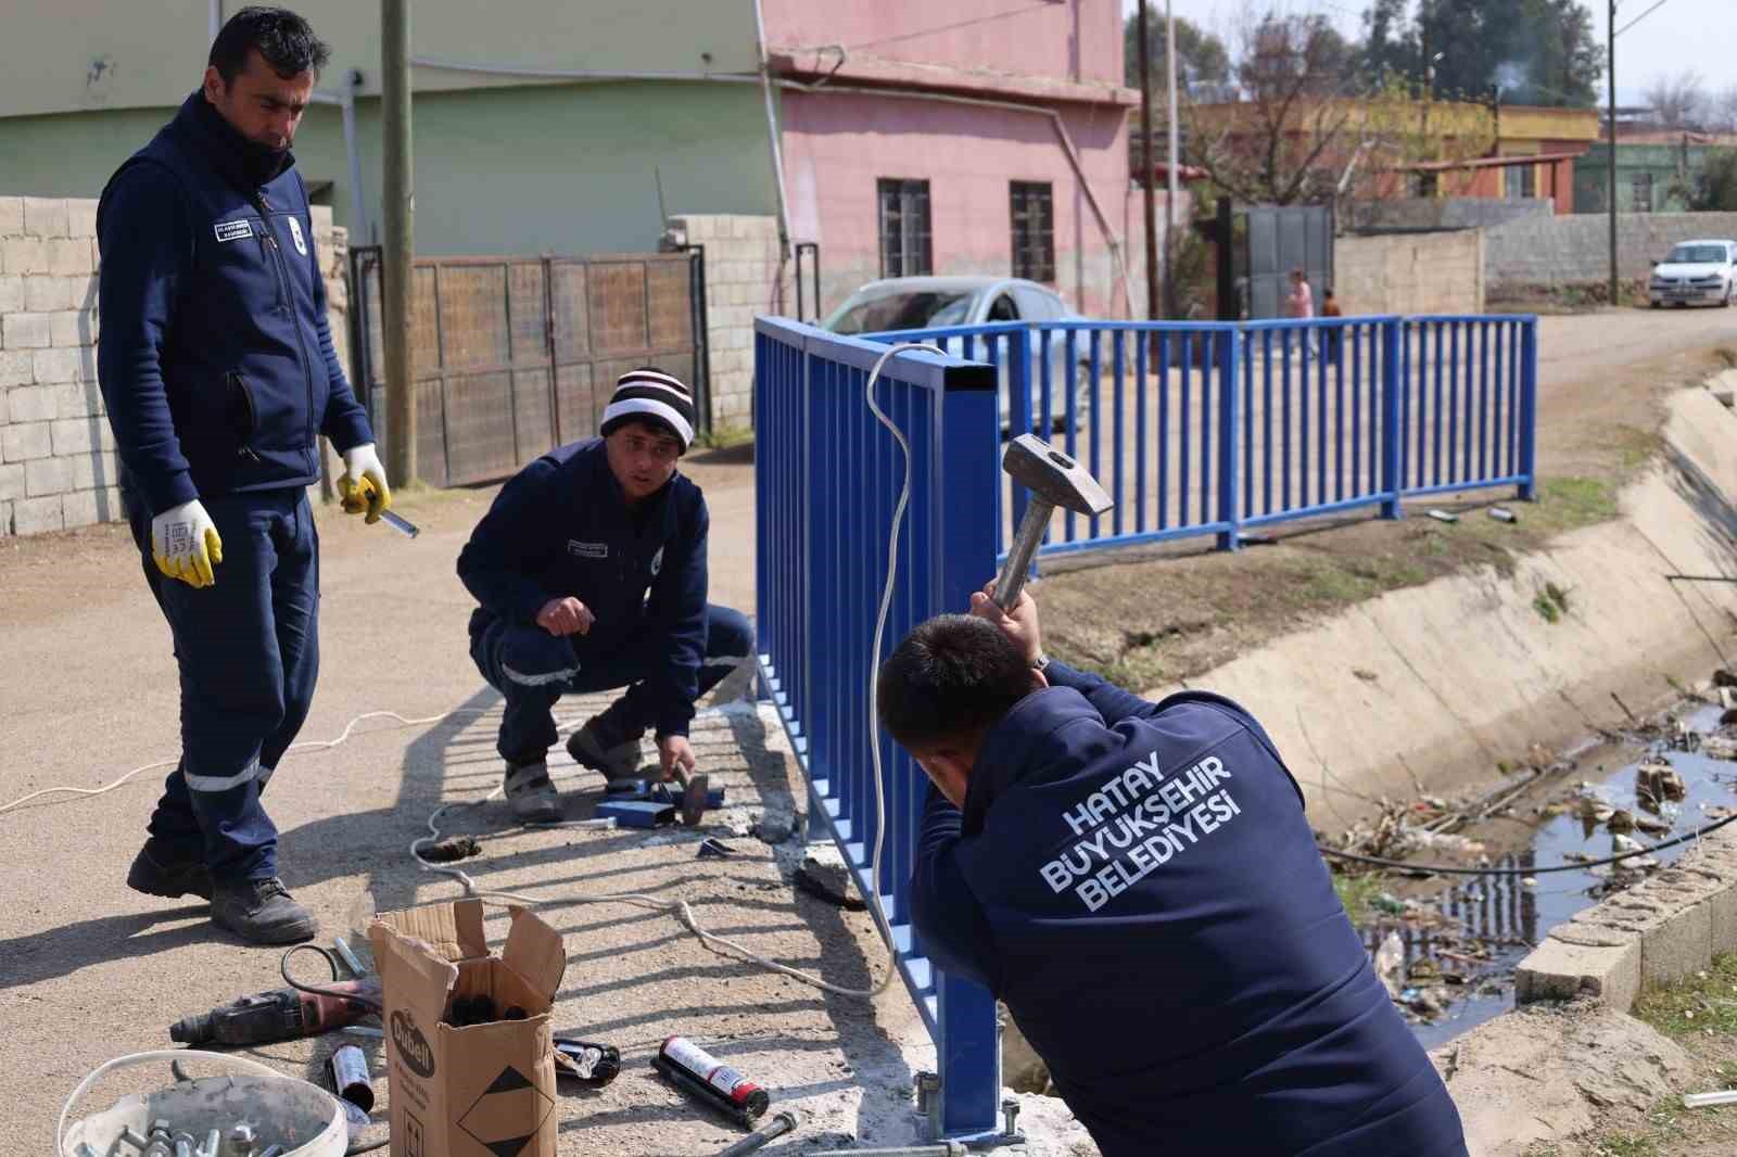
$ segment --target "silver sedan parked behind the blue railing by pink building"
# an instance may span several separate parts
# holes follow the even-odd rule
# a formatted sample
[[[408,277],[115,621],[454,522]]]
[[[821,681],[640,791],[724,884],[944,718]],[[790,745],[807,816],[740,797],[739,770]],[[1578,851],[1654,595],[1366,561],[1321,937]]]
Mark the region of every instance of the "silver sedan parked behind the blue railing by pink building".
[[[1084,321],[1068,309],[1053,290],[1021,278],[955,276],[955,278],[888,278],[870,281],[844,299],[820,328],[834,334],[896,334],[908,330],[940,330],[962,325],[988,325],[995,321]],[[1027,349],[1032,365],[1032,407],[1040,403],[1042,367],[1039,365],[1040,337],[1027,332]],[[1086,347],[1080,334],[1075,356]],[[948,349],[961,349],[947,342]],[[988,356],[978,347],[978,356]],[[1077,410],[1086,407],[1086,374],[1079,365],[1068,372],[1067,340],[1058,334],[1049,339],[1049,374],[1054,389],[1054,407],[1063,408],[1061,384],[1072,380],[1077,391]],[[1007,426],[1007,360],[1001,358],[1001,424]],[[1058,422],[1065,420],[1061,413]]]

